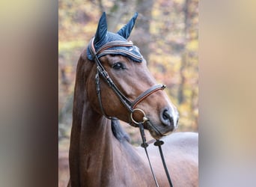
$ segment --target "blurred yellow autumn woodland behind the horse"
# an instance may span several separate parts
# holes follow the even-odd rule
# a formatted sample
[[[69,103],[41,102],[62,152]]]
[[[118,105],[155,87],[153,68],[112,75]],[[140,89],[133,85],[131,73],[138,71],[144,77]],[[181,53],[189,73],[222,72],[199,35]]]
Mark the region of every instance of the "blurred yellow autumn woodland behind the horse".
[[[198,132],[198,0],[59,0],[59,186],[66,186],[68,180],[76,63],[94,36],[103,11],[112,32],[139,13],[129,40],[140,49],[156,81],[167,86],[165,91],[180,112],[177,131]],[[138,145],[138,129],[123,126],[132,144]]]

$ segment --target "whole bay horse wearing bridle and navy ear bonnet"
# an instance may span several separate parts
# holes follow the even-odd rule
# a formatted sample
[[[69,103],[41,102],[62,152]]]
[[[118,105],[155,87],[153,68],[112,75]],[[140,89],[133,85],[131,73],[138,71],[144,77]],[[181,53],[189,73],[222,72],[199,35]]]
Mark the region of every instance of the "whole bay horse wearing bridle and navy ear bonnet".
[[[165,141],[162,151],[173,186],[198,186],[198,133],[171,134],[177,128],[177,108],[165,87],[156,85],[138,48],[127,41],[137,16],[112,33],[103,13],[80,55],[68,186],[156,186],[144,149],[129,143],[119,120],[142,124],[153,138]],[[147,152],[159,186],[169,186],[157,147],[149,144]]]

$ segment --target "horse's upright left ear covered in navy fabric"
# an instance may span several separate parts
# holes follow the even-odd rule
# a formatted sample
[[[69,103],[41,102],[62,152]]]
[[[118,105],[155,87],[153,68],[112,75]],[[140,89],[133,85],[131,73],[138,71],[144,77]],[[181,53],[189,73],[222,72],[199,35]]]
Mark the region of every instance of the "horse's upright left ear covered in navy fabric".
[[[108,31],[108,25],[106,22],[106,13],[103,12],[103,15],[100,17],[100,21],[98,23],[97,31],[94,37],[94,46],[97,46],[100,41],[104,40]]]

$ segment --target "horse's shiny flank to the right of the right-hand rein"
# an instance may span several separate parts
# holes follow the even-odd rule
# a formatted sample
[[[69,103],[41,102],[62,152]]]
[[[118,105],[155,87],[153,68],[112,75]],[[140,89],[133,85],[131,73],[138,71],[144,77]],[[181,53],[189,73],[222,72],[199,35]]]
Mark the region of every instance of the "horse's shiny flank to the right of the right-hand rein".
[[[198,186],[198,133],[176,132],[164,139],[168,168],[178,186]]]

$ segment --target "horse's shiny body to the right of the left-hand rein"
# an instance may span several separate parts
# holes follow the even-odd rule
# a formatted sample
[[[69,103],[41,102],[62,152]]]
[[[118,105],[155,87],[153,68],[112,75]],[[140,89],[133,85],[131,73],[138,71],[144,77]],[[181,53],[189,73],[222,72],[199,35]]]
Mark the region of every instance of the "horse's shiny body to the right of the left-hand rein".
[[[174,186],[198,186],[198,133],[174,132],[162,138],[162,152]],[[150,144],[148,153],[161,186],[168,185],[158,147]]]

